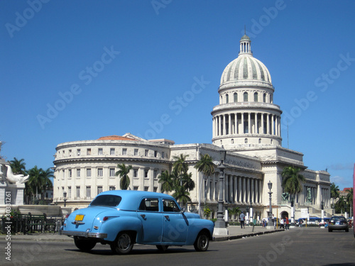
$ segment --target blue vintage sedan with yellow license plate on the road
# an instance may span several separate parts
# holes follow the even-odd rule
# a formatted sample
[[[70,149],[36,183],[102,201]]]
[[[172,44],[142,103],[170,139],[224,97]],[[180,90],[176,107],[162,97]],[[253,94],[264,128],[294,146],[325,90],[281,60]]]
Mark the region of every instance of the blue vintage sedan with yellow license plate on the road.
[[[206,251],[213,230],[212,221],[185,212],[173,196],[111,190],[70,214],[60,234],[73,237],[82,251],[102,243],[116,254],[127,254],[134,243],[156,245],[160,251],[170,245],[194,245],[195,250]]]

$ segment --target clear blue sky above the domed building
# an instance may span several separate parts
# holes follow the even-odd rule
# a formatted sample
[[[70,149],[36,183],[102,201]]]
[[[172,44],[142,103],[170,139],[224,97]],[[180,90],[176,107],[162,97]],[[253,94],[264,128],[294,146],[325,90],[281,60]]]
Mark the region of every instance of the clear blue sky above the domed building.
[[[59,143],[105,135],[211,143],[246,25],[288,121],[283,147],[351,187],[354,11],[324,0],[0,1],[1,155],[46,169]]]

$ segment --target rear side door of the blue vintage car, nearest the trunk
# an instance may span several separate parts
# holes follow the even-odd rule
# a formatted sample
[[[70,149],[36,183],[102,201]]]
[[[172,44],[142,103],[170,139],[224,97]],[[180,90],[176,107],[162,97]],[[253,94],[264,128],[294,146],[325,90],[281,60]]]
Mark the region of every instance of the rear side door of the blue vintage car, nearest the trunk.
[[[138,207],[138,218],[143,225],[143,243],[160,243],[163,235],[163,214],[159,198],[143,198]]]

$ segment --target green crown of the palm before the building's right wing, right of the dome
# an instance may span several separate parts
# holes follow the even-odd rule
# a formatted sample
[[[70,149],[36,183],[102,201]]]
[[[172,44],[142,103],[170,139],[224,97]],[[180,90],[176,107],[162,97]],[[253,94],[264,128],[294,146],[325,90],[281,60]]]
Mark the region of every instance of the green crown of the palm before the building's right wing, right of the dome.
[[[300,168],[287,166],[283,168],[281,176],[283,177],[283,191],[288,192],[290,195],[302,192],[302,183],[305,182],[305,177],[299,174]]]

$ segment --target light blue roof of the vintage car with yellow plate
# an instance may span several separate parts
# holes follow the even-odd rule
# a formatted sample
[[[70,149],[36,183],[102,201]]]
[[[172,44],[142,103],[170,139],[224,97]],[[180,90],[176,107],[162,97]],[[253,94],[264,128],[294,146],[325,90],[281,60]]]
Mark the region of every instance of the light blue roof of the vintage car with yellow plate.
[[[165,199],[174,199],[173,196],[158,192],[143,192],[138,190],[109,190],[102,192],[101,195],[116,195],[121,196],[121,202],[119,203],[119,209],[136,211],[138,204],[140,204],[143,197],[163,197]]]

